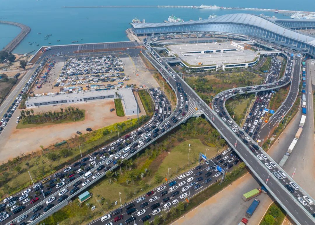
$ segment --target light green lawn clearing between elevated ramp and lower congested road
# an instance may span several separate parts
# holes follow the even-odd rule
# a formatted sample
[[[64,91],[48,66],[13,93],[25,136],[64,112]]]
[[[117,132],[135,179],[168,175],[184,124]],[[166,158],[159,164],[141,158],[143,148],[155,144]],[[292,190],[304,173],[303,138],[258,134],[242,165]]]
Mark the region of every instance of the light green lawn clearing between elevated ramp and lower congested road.
[[[191,144],[191,147],[188,145]],[[190,148],[190,152],[189,152]],[[163,159],[163,162],[159,165],[157,169],[157,174],[167,177],[167,170],[169,170],[169,179],[171,177],[175,177],[180,174],[183,169],[188,169],[190,167],[194,167],[198,164],[199,153],[205,153],[206,148],[207,156],[212,158],[217,153],[215,147],[209,147],[201,143],[199,139],[190,139],[180,143],[178,146],[172,149],[172,151],[167,154],[167,156]],[[188,161],[188,153],[189,153],[189,160]]]

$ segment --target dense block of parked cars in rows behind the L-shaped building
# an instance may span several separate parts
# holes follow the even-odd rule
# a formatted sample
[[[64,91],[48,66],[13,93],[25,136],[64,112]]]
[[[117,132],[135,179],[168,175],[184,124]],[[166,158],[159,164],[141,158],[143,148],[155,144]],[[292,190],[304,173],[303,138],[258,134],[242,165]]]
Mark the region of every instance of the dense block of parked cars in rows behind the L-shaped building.
[[[129,80],[118,56],[70,58],[65,62],[54,87]]]

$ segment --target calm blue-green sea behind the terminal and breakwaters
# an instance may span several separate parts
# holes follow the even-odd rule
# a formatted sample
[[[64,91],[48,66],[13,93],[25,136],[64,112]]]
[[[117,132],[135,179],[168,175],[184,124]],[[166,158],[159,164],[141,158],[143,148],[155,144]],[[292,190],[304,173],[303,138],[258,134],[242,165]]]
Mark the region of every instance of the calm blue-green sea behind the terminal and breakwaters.
[[[146,22],[159,23],[174,15],[188,21],[198,20],[199,17],[207,19],[210,14],[218,16],[230,13],[264,13],[268,16],[274,13],[243,10],[206,10],[184,8],[61,8],[63,6],[97,6],[97,5],[195,5],[201,4],[271,8],[315,11],[315,1],[306,0],[301,4],[293,0],[277,1],[234,1],[234,0],[0,0],[0,20],[14,21],[26,24],[31,32],[14,50],[15,53],[27,53],[38,49],[40,46],[58,44],[71,44],[78,40],[79,43],[127,41],[125,30],[135,17],[146,19]],[[278,18],[289,18],[276,14]],[[20,32],[20,28],[0,24],[0,49],[6,46],[12,38]],[[41,33],[37,35],[37,33]],[[49,40],[44,36],[52,34]],[[81,40],[83,39],[83,40]],[[57,42],[57,40],[60,40]],[[36,42],[30,45],[27,42]]]

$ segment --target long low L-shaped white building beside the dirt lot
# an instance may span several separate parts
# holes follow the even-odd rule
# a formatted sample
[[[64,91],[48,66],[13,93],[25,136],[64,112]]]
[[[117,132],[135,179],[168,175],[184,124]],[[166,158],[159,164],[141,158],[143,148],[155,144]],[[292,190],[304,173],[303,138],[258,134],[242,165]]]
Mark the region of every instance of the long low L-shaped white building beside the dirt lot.
[[[131,88],[118,88],[101,90],[101,91],[81,91],[69,94],[56,94],[51,93],[37,97],[29,97],[26,102],[26,108],[34,108],[53,104],[75,104],[86,103],[91,100],[100,99],[116,99],[120,98],[123,102],[125,115],[137,114],[137,101]]]

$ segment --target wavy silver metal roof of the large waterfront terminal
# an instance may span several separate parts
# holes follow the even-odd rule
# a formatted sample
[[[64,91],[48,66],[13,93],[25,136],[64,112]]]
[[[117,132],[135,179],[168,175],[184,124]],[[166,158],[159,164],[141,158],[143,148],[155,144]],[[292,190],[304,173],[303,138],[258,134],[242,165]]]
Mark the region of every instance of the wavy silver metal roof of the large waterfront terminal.
[[[162,27],[162,26],[176,26],[176,25],[187,25],[187,24],[207,24],[207,23],[238,23],[238,24],[249,24],[252,26],[257,26],[262,29],[266,29],[275,33],[279,33],[283,36],[307,42],[315,46],[315,38],[301,34],[295,30],[291,30],[284,26],[281,26],[274,21],[261,17],[254,14],[248,13],[235,13],[226,14],[212,19],[203,19],[187,22],[177,22],[177,23],[144,23],[144,24],[131,24],[134,28],[151,28],[151,27]]]

